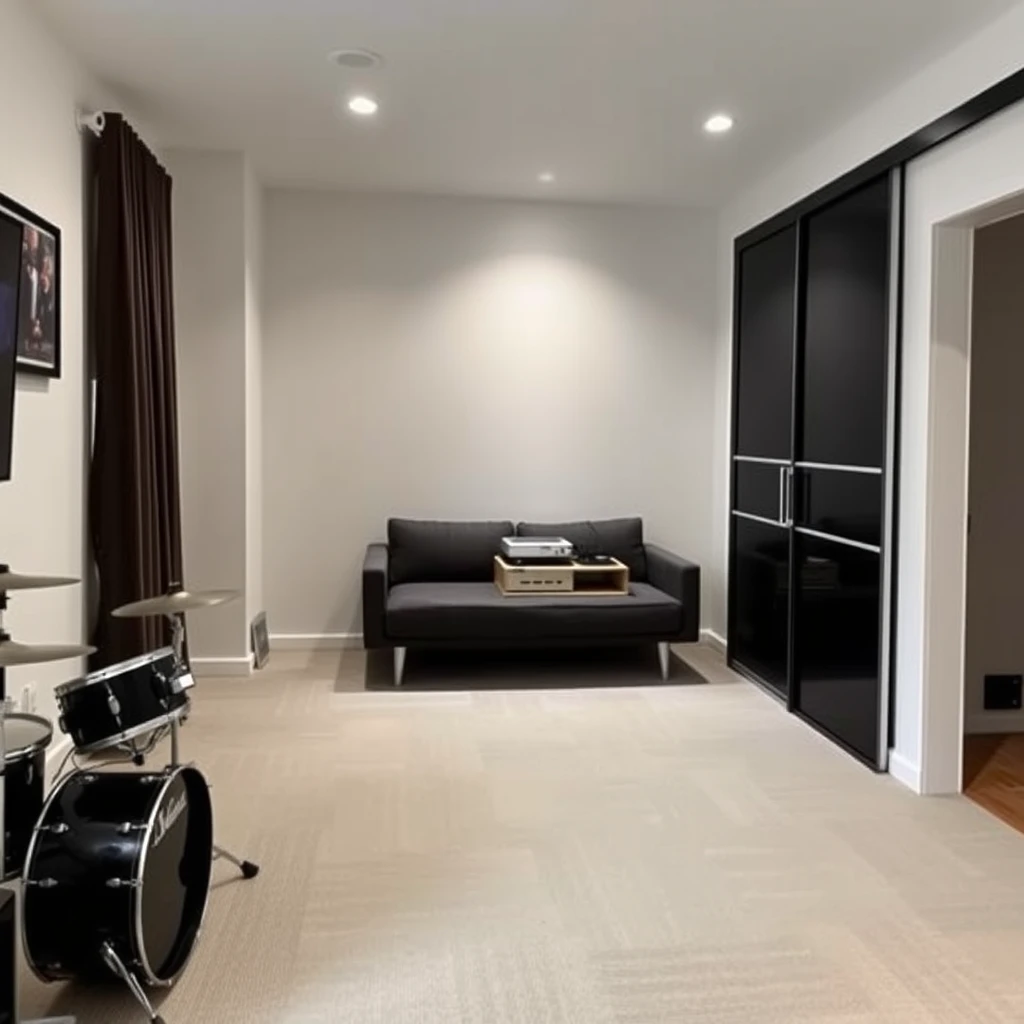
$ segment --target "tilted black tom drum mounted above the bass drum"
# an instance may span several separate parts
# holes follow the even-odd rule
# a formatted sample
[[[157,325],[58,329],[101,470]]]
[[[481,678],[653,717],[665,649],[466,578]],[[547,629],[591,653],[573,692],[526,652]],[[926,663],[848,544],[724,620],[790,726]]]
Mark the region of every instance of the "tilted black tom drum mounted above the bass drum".
[[[187,714],[188,679],[170,647],[90,673],[54,691],[60,728],[83,753],[127,743]]]

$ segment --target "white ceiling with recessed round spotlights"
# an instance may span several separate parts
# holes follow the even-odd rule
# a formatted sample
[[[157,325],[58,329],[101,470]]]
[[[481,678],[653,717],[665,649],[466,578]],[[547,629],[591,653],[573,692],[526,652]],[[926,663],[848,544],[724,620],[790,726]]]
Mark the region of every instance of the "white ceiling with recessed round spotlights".
[[[1014,2],[32,0],[161,142],[245,150],[267,182],[699,205]],[[385,67],[328,61],[348,46]],[[375,119],[341,113],[353,91]]]

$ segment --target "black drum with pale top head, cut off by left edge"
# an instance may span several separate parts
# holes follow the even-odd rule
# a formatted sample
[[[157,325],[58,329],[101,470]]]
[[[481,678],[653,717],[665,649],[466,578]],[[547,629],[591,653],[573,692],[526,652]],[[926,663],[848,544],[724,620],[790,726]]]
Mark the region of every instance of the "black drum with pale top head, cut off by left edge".
[[[22,873],[32,829],[43,809],[46,748],[53,727],[36,715],[8,715],[3,719],[3,880]]]

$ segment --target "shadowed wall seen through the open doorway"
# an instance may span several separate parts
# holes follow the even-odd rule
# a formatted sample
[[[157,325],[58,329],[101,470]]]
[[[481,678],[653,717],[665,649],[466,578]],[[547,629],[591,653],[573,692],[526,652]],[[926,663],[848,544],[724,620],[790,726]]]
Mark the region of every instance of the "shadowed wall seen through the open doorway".
[[[1024,732],[985,712],[985,676],[1024,672],[1024,217],[975,236],[968,507],[968,732]]]

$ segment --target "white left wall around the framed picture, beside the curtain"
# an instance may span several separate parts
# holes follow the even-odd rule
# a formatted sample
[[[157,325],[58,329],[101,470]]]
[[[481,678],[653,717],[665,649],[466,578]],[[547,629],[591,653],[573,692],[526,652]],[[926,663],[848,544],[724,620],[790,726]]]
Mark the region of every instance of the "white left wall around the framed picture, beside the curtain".
[[[110,97],[20,0],[0,0],[0,191],[56,223],[62,237],[62,372],[52,381],[18,377],[12,479],[0,483],[0,560],[22,571],[84,577],[85,187],[75,109],[103,106]],[[23,642],[82,642],[84,598],[81,586],[12,595],[5,626]],[[82,669],[63,662],[11,670],[8,692],[19,696],[26,683],[37,683],[39,713],[55,719],[52,687]]]

